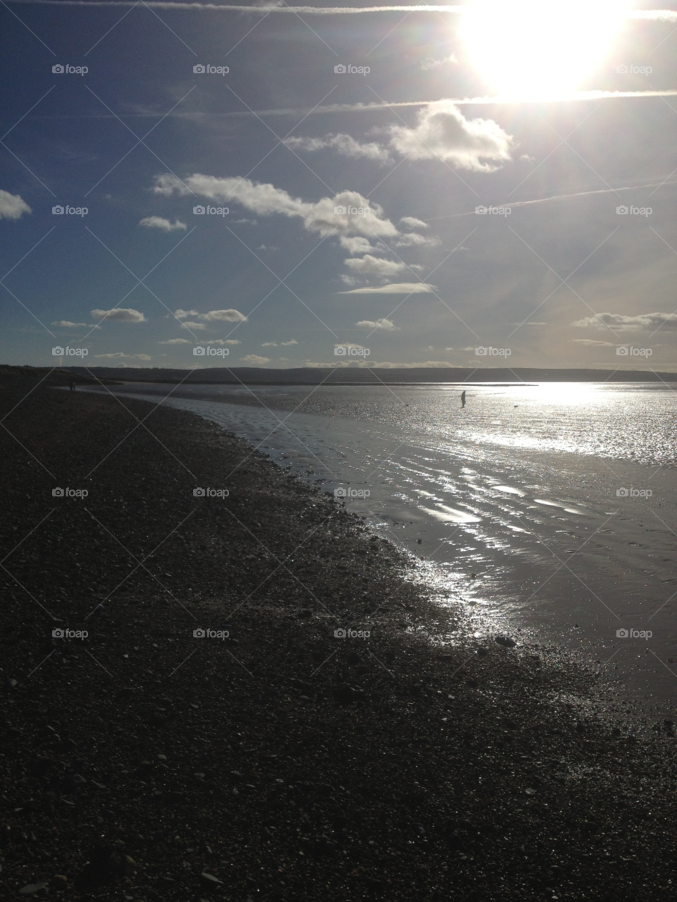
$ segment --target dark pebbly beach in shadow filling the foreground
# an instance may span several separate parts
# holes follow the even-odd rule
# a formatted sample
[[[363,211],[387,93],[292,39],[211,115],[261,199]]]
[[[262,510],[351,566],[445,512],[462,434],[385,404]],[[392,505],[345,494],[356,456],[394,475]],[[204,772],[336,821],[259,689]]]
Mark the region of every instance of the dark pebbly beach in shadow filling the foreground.
[[[431,649],[407,560],[206,420],[0,389],[5,897],[673,896],[672,727],[552,646]]]

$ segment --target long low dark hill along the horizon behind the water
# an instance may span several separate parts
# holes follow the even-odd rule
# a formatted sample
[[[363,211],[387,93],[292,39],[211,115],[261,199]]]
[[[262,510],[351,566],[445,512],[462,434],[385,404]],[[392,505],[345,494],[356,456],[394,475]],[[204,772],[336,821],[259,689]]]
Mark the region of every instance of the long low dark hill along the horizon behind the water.
[[[30,367],[21,367],[23,370]],[[249,385],[378,385],[412,382],[677,382],[677,373],[641,370],[554,370],[514,367],[512,369],[472,369],[471,367],[420,367],[416,369],[358,369],[299,367],[272,370],[254,366],[214,367],[206,370],[169,370],[151,367],[71,366],[73,373],[89,373],[99,379],[122,382],[189,382],[192,384],[246,382]]]

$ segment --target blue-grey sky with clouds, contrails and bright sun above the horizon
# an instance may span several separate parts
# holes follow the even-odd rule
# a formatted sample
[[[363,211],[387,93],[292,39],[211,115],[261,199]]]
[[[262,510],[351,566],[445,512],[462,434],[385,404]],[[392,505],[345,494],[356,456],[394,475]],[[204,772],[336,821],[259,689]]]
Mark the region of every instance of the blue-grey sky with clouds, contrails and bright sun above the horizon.
[[[677,6],[0,17],[0,362],[677,370]]]

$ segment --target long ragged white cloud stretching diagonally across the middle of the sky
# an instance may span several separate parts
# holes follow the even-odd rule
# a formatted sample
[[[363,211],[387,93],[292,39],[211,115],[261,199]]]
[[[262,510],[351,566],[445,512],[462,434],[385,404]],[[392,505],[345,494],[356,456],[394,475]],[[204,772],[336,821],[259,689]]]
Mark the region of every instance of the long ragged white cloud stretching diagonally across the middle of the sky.
[[[157,194],[186,195],[190,191],[204,198],[228,200],[241,204],[260,216],[278,213],[281,216],[298,216],[303,219],[308,232],[320,235],[398,235],[397,228],[389,219],[383,219],[379,204],[363,198],[358,191],[340,191],[333,198],[321,198],[315,203],[307,203],[274,185],[253,182],[250,179],[219,179],[211,175],[188,176],[185,182],[165,173],[155,176]],[[357,207],[368,209],[364,216],[334,213],[334,207]]]

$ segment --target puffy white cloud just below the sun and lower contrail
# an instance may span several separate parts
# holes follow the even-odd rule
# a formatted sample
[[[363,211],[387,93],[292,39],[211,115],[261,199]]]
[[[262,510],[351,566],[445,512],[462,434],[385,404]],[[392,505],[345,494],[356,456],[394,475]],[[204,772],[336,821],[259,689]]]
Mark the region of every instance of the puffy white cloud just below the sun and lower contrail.
[[[415,128],[390,126],[390,146],[410,160],[442,160],[458,169],[494,172],[510,160],[513,138],[493,119],[466,119],[451,100],[419,110]]]

